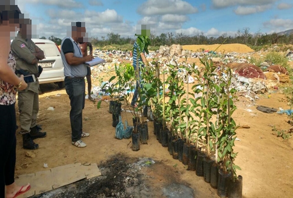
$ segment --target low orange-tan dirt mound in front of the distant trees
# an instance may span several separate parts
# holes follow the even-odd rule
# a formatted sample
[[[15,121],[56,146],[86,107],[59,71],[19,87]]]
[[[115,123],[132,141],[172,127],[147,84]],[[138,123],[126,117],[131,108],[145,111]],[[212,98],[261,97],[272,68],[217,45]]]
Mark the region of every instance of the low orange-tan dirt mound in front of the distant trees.
[[[227,53],[227,52],[238,52],[238,53],[254,52],[254,50],[252,50],[251,48],[249,48],[248,46],[243,45],[243,44],[223,44],[220,47],[219,46],[220,46],[220,44],[186,45],[186,46],[182,46],[182,47],[183,47],[183,50],[190,50],[193,52],[202,51],[202,49],[209,50],[209,51],[217,51],[217,52],[221,52],[221,53],[223,53],[223,52],[225,52],[225,53]]]

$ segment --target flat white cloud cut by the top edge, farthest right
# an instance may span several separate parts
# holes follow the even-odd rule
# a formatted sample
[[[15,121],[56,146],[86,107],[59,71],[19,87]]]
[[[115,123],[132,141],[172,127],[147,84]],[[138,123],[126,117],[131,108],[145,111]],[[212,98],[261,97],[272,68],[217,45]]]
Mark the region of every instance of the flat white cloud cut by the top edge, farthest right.
[[[262,6],[275,3],[279,0],[212,0],[214,8],[227,8],[231,6]]]

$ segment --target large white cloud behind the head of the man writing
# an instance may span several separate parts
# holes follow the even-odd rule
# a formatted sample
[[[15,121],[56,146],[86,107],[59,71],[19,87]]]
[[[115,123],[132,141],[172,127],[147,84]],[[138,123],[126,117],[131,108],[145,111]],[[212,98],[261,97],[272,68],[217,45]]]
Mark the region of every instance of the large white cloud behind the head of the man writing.
[[[72,22],[85,22],[87,32],[94,37],[106,36],[114,32],[121,36],[133,36],[135,26],[129,21],[123,21],[123,17],[115,10],[105,10],[104,12],[88,11],[78,13],[73,10],[48,10],[51,18],[48,24],[40,24],[40,37],[54,35],[64,38],[67,35],[67,28],[70,30]]]

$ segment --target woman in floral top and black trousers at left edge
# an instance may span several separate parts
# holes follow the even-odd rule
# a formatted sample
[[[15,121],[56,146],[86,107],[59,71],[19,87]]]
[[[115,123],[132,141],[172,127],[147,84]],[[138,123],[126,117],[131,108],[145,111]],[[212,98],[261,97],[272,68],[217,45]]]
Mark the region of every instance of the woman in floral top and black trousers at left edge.
[[[0,197],[6,198],[17,197],[31,187],[30,184],[18,186],[14,181],[16,93],[17,89],[24,90],[28,86],[24,76],[15,75],[16,61],[10,49],[10,33],[19,28],[20,13],[18,6],[0,3]]]

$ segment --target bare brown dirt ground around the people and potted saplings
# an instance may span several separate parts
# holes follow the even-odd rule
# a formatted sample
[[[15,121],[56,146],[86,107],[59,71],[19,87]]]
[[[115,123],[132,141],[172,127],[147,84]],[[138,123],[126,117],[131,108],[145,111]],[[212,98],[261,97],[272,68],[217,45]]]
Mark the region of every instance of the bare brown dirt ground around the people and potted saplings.
[[[198,62],[198,60],[196,61]],[[99,82],[95,82],[94,79],[93,85],[99,85]],[[48,135],[46,138],[35,140],[36,143],[40,144],[40,148],[33,151],[36,157],[29,158],[25,154],[26,150],[22,148],[21,135],[17,133],[16,175],[44,170],[44,163],[48,163],[49,167],[56,167],[76,162],[97,163],[102,168],[102,173],[104,171],[107,175],[106,170],[107,168],[109,170],[109,164],[112,164],[111,160],[113,161],[113,159],[118,163],[114,169],[122,168],[124,170],[123,167],[127,164],[138,161],[140,157],[147,157],[152,158],[156,163],[151,167],[142,168],[142,172],[137,174],[144,175],[138,177],[141,178],[140,181],[145,181],[145,186],[149,186],[150,191],[146,194],[151,195],[150,197],[177,197],[162,192],[164,186],[169,185],[174,188],[174,186],[172,187],[173,183],[176,183],[177,187],[183,185],[183,188],[186,188],[183,191],[189,187],[192,188],[193,191],[190,193],[194,197],[217,197],[216,190],[204,182],[202,177],[196,176],[195,172],[188,171],[186,166],[173,159],[167,149],[161,146],[152,133],[152,122],[148,123],[148,144],[141,145],[137,152],[131,149],[131,139],[115,139],[112,115],[108,113],[109,107],[105,103],[102,103],[102,108],[98,110],[96,103],[86,100],[83,112],[83,130],[89,132],[90,137],[83,140],[88,146],[86,148],[72,146],[69,120],[70,101],[65,89],[59,90],[54,84],[42,85],[41,89],[43,94],[40,95],[38,124],[43,125],[43,129],[47,131]],[[283,140],[272,134],[273,126],[277,130],[291,128],[287,123],[289,118],[286,115],[276,113],[262,113],[256,110],[256,105],[277,109],[279,107],[289,109],[290,107],[280,91],[258,96],[260,99],[256,100],[255,105],[247,98],[239,97],[239,101],[236,102],[238,109],[233,114],[236,124],[250,126],[249,129],[237,129],[240,141],[235,142],[235,151],[238,152],[235,163],[242,168],[241,171],[238,171],[238,174],[243,176],[242,194],[243,197],[291,197],[293,193],[293,159],[291,157],[293,140]],[[54,107],[55,110],[47,110],[49,107]],[[123,120],[127,119],[129,123],[132,123],[130,113],[122,112],[121,115]],[[125,165],[122,162],[127,163]],[[128,169],[122,172],[127,173]],[[94,183],[94,181],[91,180],[90,183]],[[71,191],[75,191],[76,185],[83,184],[85,185],[85,183],[73,184],[73,187],[65,188],[63,193],[67,194],[60,197],[73,197]],[[90,184],[87,183],[87,186]],[[95,187],[102,188],[103,186]],[[97,195],[99,192],[95,193]],[[57,198],[58,196],[46,197]],[[75,197],[91,196],[80,194]],[[116,197],[127,197],[127,194],[124,196],[116,194]]]

